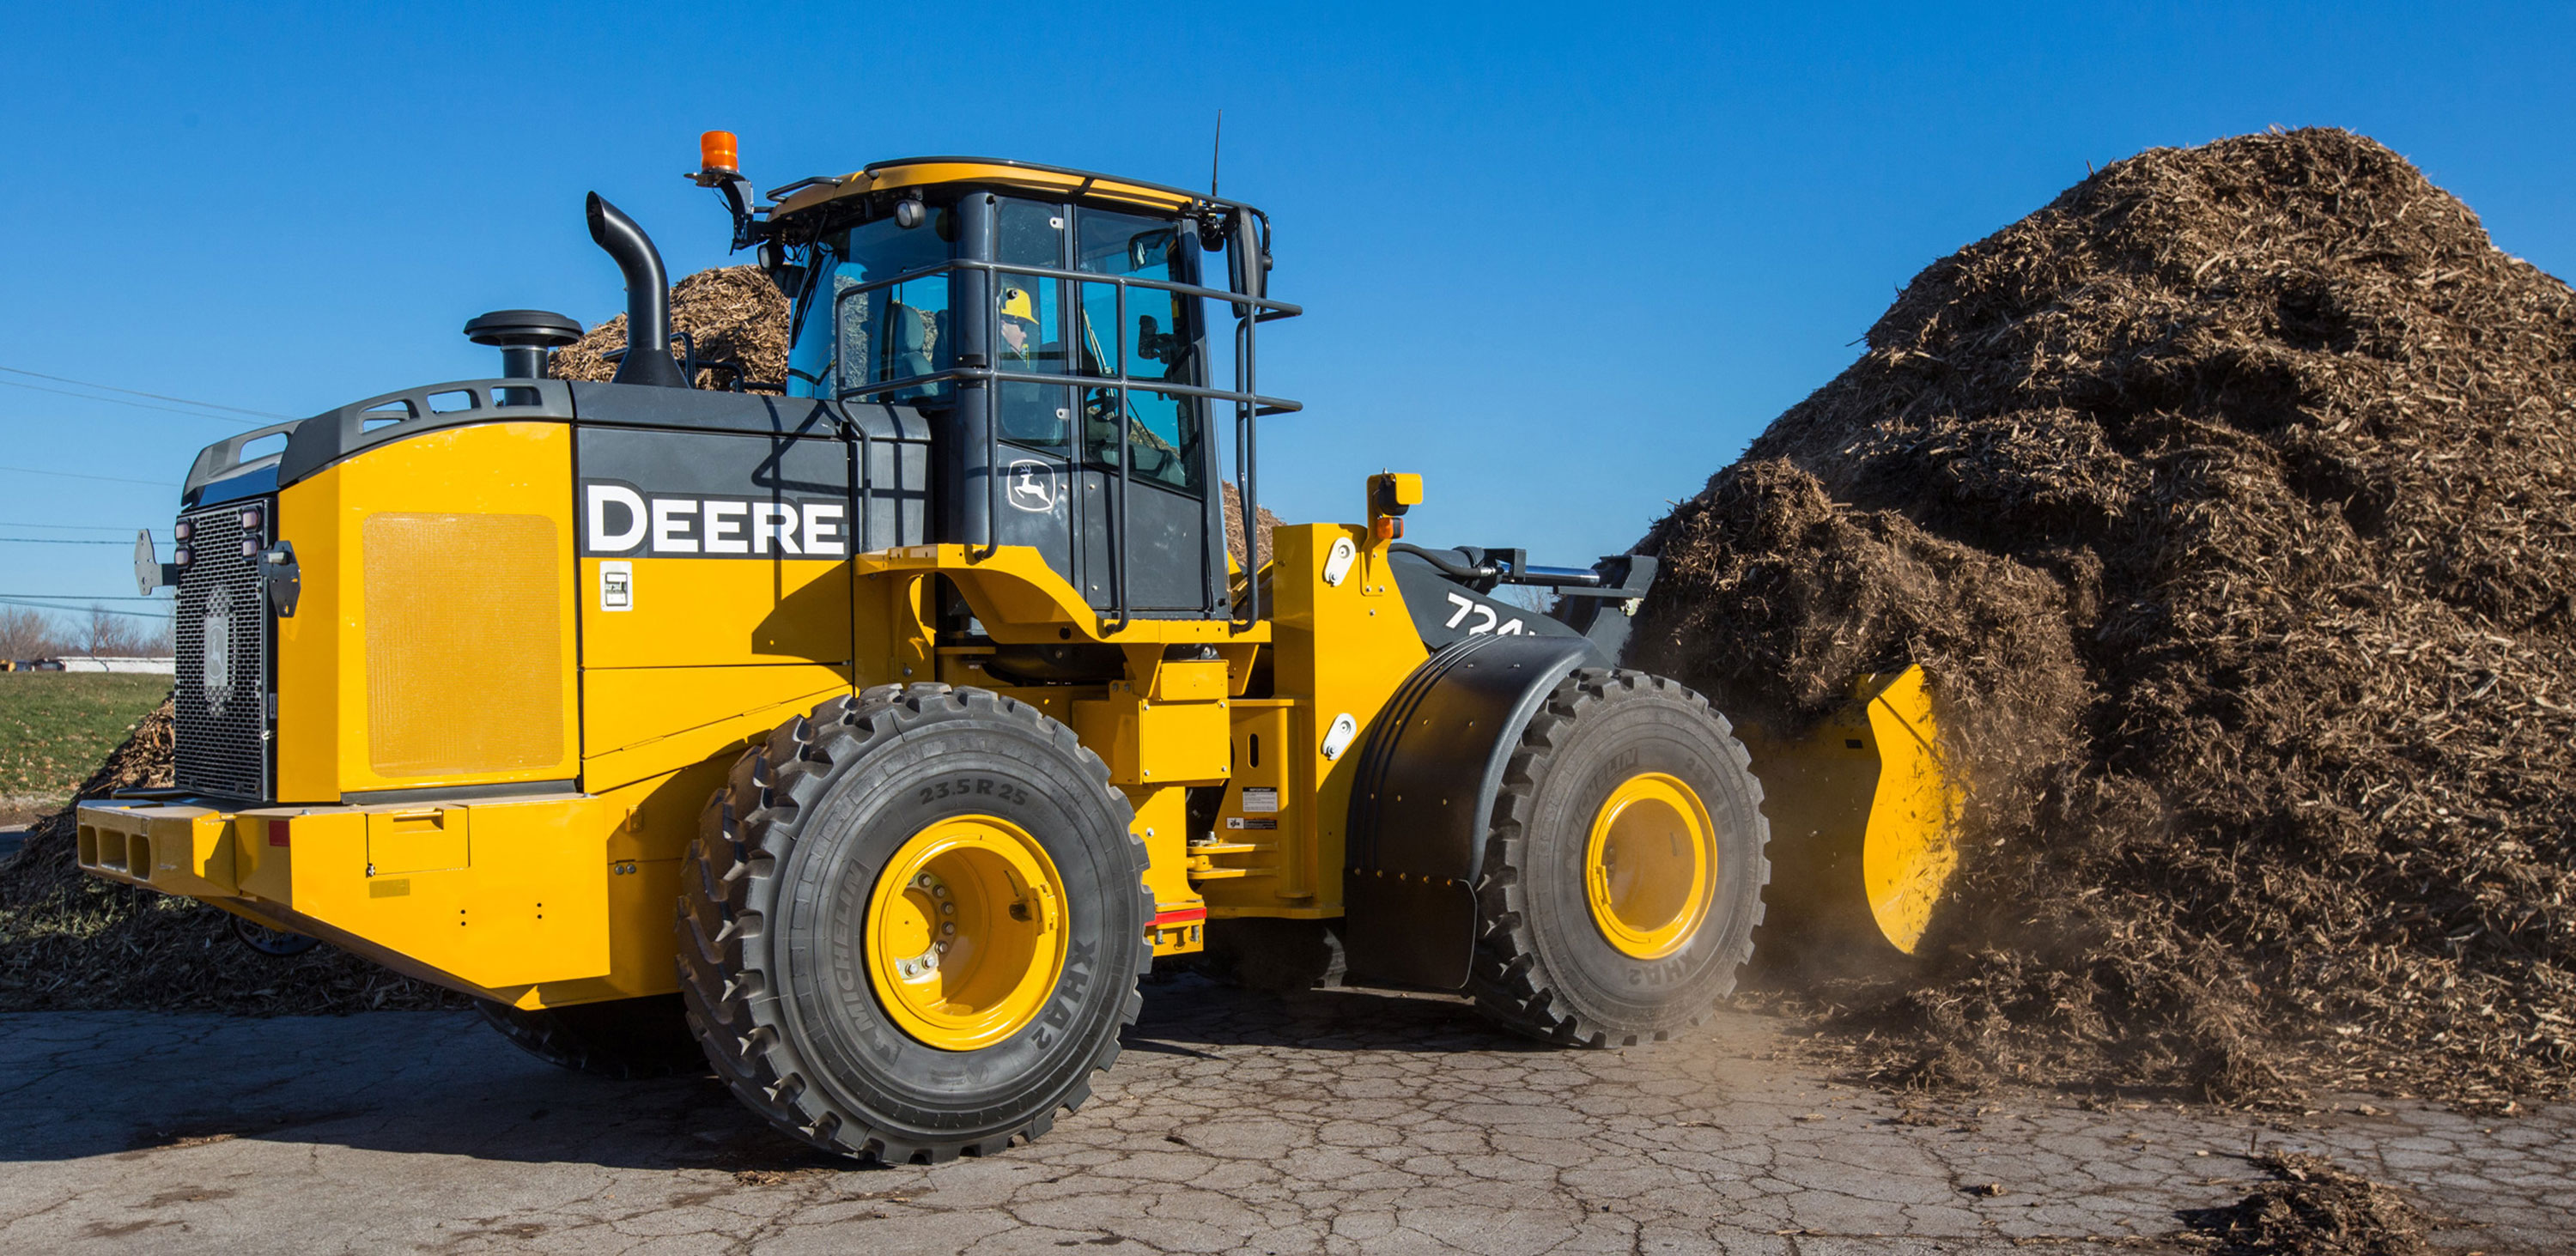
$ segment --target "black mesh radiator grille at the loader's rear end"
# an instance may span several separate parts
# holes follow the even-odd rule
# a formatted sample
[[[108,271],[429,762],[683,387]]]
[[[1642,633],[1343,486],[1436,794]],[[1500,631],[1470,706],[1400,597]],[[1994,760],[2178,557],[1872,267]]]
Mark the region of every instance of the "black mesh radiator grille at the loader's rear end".
[[[276,512],[260,499],[183,515],[188,566],[173,620],[175,780],[219,798],[268,798],[268,605],[258,561],[242,556],[245,507]]]

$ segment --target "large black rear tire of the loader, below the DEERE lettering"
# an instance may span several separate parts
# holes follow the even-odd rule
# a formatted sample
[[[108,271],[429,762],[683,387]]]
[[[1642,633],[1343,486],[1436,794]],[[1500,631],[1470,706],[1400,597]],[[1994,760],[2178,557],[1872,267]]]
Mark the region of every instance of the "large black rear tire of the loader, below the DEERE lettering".
[[[708,1063],[773,1125],[845,1156],[938,1163],[1043,1135],[1144,1006],[1154,896],[1131,824],[1074,731],[1010,697],[881,685],[788,721],[734,764],[683,865],[680,993]],[[1007,857],[920,862],[961,826]],[[912,955],[940,921],[940,901],[912,896],[930,870],[945,880],[920,885],[953,883],[940,901],[969,909],[951,919],[997,939],[966,927],[938,947],[948,968]],[[943,1009],[987,986],[1007,993],[943,1037]]]

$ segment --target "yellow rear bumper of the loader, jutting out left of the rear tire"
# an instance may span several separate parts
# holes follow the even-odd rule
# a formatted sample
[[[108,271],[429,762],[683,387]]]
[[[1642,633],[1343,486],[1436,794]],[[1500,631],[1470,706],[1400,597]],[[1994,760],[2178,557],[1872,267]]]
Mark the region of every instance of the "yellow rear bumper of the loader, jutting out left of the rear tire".
[[[590,795],[224,808],[82,803],[80,867],[319,937],[399,973],[513,1004],[608,996],[616,824]],[[623,885],[621,885],[623,888]],[[667,909],[665,909],[667,911]]]

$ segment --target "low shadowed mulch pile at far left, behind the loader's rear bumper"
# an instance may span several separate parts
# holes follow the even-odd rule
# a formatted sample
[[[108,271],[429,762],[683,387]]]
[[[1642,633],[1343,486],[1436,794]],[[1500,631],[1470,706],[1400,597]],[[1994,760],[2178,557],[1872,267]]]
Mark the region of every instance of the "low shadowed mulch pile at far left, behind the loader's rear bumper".
[[[170,703],[80,785],[77,798],[170,785]],[[85,875],[72,808],[36,821],[0,862],[0,1011],[139,1009],[314,1017],[374,1009],[469,1006],[332,947],[268,957],[242,945],[232,916]]]

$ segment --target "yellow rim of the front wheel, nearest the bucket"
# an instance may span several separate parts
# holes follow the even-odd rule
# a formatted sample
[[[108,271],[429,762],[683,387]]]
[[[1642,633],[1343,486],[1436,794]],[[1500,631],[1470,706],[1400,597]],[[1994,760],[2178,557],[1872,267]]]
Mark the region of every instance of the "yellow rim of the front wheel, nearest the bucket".
[[[1592,924],[1620,955],[1662,960],[1682,950],[1718,883],[1718,831],[1700,795],[1664,772],[1610,790],[1584,844]]]

